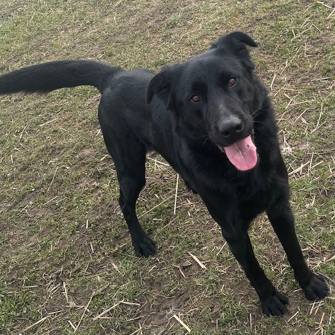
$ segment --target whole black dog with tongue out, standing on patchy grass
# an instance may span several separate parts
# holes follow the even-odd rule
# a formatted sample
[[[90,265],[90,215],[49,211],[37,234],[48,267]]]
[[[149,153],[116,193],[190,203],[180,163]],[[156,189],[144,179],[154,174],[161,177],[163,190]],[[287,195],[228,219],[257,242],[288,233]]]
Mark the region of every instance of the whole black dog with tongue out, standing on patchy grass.
[[[329,289],[307,267],[297,241],[274,111],[253,73],[246,45],[257,46],[248,35],[232,32],[209,51],[165,66],[156,75],[94,61],[49,62],[0,76],[0,94],[97,87],[102,95],[99,122],[115,162],[119,203],[136,255],[156,250],[135,213],[145,184],[145,155],[156,150],[201,196],[221,226],[263,312],[281,315],[288,300],[265,276],[248,236],[257,214],[267,212],[306,297],[324,298]]]

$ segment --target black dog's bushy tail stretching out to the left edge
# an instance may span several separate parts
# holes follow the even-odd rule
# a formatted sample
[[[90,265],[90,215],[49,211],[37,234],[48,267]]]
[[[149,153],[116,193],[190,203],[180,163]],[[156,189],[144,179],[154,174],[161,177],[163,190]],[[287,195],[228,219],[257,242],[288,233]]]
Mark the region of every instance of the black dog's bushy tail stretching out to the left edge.
[[[62,87],[95,86],[101,93],[122,68],[107,63],[68,60],[32,65],[0,76],[0,94],[50,92]]]

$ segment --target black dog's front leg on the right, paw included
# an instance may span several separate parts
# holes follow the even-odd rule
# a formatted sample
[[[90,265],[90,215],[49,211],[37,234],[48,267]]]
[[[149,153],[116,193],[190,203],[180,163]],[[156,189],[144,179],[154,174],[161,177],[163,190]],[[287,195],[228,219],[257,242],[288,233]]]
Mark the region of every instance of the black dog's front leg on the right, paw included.
[[[322,299],[329,288],[323,277],[314,274],[307,266],[294,229],[294,216],[286,199],[279,199],[267,209],[268,218],[282,244],[294,276],[307,299]]]

